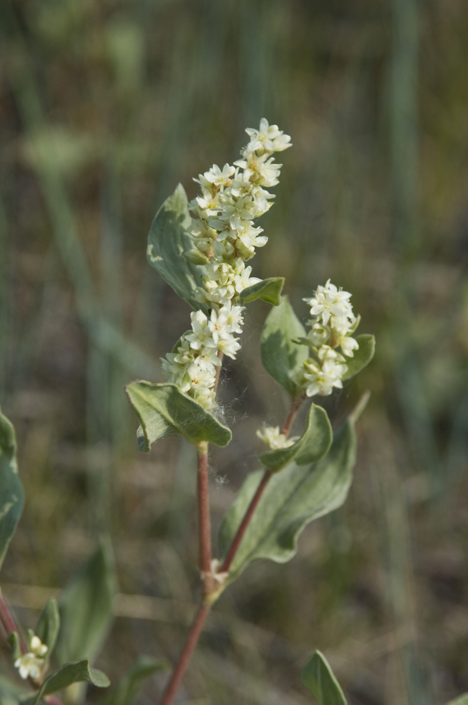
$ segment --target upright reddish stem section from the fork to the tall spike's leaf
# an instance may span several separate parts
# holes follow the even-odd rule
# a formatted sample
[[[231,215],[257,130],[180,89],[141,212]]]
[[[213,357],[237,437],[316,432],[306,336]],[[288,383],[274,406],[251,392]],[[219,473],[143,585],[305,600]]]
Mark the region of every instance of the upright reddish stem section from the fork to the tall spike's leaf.
[[[203,598],[206,599],[213,590],[210,496],[208,491],[208,443],[203,442],[199,444],[197,448],[197,460],[198,560],[203,584]]]

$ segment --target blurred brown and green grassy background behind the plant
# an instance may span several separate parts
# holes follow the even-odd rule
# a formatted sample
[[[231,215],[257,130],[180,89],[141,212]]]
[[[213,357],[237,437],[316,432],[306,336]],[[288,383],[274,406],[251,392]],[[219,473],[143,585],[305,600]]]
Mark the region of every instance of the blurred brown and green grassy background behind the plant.
[[[353,292],[377,355],[327,409],[336,423],[372,399],[346,505],[227,591],[179,701],[303,705],[314,648],[353,705],[468,690],[466,2],[1,0],[0,31],[0,401],[27,494],[2,584],[20,618],[109,531],[130,597],[97,665],[115,679],[140,652],[177,656],[198,599],[194,455],[175,439],[139,454],[123,385],[162,380],[189,309],[146,236],[177,182],[192,197],[265,116],[294,146],[250,264],[286,276],[304,319],[327,278]],[[255,429],[284,418],[267,310],[249,307],[222,377],[215,528]]]

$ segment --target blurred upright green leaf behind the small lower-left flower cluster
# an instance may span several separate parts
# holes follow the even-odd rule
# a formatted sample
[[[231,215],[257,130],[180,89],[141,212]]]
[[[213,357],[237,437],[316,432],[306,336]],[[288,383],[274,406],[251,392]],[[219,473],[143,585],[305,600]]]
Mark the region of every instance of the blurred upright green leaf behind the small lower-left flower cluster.
[[[59,663],[81,658],[92,661],[98,654],[113,620],[116,591],[110,541],[101,540],[58,601],[62,625],[56,647]]]

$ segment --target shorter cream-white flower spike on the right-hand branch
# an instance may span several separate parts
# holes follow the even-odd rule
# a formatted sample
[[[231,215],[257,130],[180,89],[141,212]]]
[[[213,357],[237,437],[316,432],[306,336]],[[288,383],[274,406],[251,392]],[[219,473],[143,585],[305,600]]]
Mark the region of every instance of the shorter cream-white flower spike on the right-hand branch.
[[[350,296],[328,280],[325,286],[317,287],[315,296],[304,299],[312,316],[307,340],[315,353],[315,357],[304,362],[302,381],[307,396],[327,396],[334,387],[343,387],[341,380],[348,372],[343,356],[353,357],[353,351],[359,348],[358,341],[351,336],[359,318],[353,314]],[[336,348],[341,348],[342,354]]]

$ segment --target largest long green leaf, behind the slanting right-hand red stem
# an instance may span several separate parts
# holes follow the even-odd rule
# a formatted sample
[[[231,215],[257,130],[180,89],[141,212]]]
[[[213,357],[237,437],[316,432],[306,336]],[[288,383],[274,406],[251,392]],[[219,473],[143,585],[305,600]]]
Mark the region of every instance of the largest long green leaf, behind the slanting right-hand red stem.
[[[345,501],[355,454],[354,424],[348,419],[335,431],[329,453],[322,460],[311,465],[291,462],[282,472],[272,475],[232,561],[227,583],[236,580],[258,558],[276,563],[293,558],[305,525]],[[219,536],[222,555],[227,553],[263,474],[263,470],[258,470],[248,475],[224,515]]]

